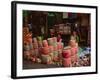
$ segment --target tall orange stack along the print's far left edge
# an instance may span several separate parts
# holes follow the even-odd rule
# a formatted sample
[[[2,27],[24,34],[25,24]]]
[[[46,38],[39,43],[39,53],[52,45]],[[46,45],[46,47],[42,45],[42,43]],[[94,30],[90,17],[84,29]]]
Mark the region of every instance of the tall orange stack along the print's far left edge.
[[[24,59],[33,60],[33,45],[32,45],[32,33],[29,32],[28,27],[23,28],[23,52],[24,52]]]

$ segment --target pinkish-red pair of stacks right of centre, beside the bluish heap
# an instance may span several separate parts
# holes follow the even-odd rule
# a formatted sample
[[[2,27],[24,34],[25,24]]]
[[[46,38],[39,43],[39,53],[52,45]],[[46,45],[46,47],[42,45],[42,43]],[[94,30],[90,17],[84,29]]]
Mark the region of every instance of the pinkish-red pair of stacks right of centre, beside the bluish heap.
[[[77,66],[78,62],[78,43],[75,40],[70,40],[69,47],[63,50],[63,66]]]

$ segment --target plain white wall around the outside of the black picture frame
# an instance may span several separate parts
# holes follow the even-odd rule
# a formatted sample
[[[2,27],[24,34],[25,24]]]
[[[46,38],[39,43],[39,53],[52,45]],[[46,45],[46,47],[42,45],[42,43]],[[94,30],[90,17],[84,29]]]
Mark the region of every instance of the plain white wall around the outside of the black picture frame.
[[[82,4],[82,5],[98,5],[98,6],[100,5],[99,4],[100,0],[31,0],[31,1]],[[10,12],[11,5],[10,3],[11,0],[0,1],[0,54],[1,54],[0,55],[0,80],[11,80],[10,78],[10,71],[11,71],[10,69],[11,68],[10,66],[11,65],[11,48],[10,48],[11,47],[11,12]],[[100,16],[98,17],[100,21]],[[98,25],[100,26],[100,24]],[[100,41],[100,37],[98,38],[98,41]],[[100,57],[100,54],[98,54],[98,57]],[[100,58],[98,61],[100,61]],[[99,63],[99,67],[100,67],[100,63]],[[56,80],[56,79],[57,80],[99,80],[100,79],[99,76],[100,76],[100,72],[99,74],[91,74],[91,75],[42,78],[42,80]],[[33,80],[33,79],[26,79],[26,80]],[[41,79],[36,78],[34,80],[41,80]]]

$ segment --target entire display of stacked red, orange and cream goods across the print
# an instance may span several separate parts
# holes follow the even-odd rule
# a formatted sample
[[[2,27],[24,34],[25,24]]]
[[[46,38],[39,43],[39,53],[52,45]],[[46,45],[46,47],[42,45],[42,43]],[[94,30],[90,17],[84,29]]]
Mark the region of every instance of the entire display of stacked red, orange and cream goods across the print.
[[[80,51],[75,40],[70,40],[68,46],[57,42],[57,37],[43,39],[33,37],[28,27],[23,28],[23,56],[38,64],[55,64],[62,67],[79,67],[90,65],[90,48]]]

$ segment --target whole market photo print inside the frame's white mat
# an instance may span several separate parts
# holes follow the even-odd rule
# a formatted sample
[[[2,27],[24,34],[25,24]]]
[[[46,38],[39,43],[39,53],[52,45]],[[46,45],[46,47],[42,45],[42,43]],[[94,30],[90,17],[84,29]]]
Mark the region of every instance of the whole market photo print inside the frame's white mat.
[[[23,69],[91,65],[91,15],[23,10]]]

